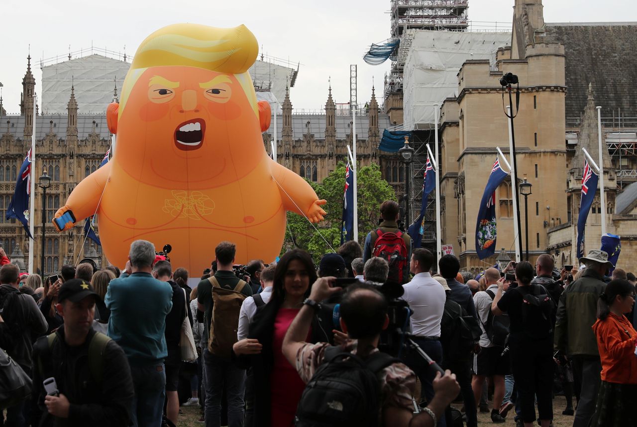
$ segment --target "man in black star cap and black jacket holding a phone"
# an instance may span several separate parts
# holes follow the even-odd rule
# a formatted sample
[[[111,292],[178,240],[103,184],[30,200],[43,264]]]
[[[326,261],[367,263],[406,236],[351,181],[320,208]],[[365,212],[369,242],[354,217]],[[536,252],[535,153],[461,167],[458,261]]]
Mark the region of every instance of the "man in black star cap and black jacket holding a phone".
[[[33,425],[128,426],[131,369],[121,347],[92,328],[98,300],[82,279],[62,284],[55,309],[64,325],[33,350]],[[51,378],[57,393],[43,385]]]

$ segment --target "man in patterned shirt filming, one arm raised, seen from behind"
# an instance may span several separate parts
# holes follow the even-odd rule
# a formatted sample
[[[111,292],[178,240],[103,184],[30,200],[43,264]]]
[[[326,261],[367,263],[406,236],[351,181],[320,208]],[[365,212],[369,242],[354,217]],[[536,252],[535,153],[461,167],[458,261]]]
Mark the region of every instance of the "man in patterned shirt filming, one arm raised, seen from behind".
[[[310,298],[304,302],[283,339],[285,358],[296,367],[304,382],[311,383],[301,396],[296,425],[319,425],[318,421],[323,423],[320,425],[333,426],[436,425],[445,407],[458,394],[455,375],[449,371],[443,376],[438,374],[433,382],[434,398],[424,412],[413,417],[415,375],[401,361],[380,353],[377,348],[380,333],[389,325],[389,317],[387,300],[375,287],[353,284],[343,293],[340,325],[348,334],[345,344],[332,347],[324,342],[304,342],[314,311],[319,307],[317,302],[341,291],[331,287],[334,280],[334,277],[321,277],[311,286]],[[329,381],[331,377],[340,378],[340,385]],[[335,389],[347,388],[350,383],[361,384],[362,387],[352,389],[362,389],[368,394],[356,396],[343,393],[347,389]],[[322,400],[324,405],[318,403]]]

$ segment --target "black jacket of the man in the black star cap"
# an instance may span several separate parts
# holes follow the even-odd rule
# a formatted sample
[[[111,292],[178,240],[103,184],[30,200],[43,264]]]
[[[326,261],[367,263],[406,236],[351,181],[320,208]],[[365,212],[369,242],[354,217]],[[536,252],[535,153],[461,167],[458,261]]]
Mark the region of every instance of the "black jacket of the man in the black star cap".
[[[32,426],[128,426],[131,419],[131,368],[124,351],[110,340],[106,344],[101,383],[90,373],[89,344],[96,332],[91,328],[82,346],[70,347],[64,340],[64,328],[49,349],[47,337],[41,337],[33,349]],[[39,371],[39,366],[43,373]],[[71,403],[67,419],[47,412],[47,392],[42,382],[54,377],[59,392]]]

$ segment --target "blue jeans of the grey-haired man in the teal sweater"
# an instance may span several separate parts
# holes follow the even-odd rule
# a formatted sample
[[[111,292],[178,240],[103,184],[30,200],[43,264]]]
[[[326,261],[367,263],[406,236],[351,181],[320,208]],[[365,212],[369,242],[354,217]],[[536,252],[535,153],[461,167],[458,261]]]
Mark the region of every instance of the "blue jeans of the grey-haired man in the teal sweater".
[[[132,385],[135,397],[132,400],[132,425],[134,427],[161,426],[166,400],[166,370],[164,363],[138,365],[131,363]]]

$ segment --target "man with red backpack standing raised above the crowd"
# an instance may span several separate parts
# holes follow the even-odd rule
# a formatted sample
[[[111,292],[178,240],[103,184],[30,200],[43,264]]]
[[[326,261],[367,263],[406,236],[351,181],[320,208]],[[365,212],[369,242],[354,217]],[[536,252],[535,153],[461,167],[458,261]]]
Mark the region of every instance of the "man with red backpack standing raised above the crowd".
[[[412,239],[398,228],[399,207],[394,200],[385,200],[380,205],[383,221],[371,230],[365,239],[363,261],[380,256],[389,263],[389,281],[409,283],[409,262],[412,257]]]

